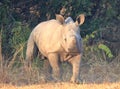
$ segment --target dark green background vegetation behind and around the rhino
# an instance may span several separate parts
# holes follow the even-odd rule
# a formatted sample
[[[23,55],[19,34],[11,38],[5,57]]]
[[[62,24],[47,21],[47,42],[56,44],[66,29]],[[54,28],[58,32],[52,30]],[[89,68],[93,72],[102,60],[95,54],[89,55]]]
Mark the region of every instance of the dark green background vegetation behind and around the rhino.
[[[65,18],[86,16],[81,26],[85,61],[120,61],[119,0],[1,0],[0,59],[8,60],[7,66],[23,63],[32,29],[61,10],[65,10]]]

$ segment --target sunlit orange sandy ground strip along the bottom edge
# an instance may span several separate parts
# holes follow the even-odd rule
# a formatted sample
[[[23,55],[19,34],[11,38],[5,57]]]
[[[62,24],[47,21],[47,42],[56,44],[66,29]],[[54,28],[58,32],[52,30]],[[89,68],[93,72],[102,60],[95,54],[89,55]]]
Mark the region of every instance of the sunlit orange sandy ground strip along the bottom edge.
[[[45,83],[28,86],[0,84],[0,89],[120,89],[120,82],[103,84]]]

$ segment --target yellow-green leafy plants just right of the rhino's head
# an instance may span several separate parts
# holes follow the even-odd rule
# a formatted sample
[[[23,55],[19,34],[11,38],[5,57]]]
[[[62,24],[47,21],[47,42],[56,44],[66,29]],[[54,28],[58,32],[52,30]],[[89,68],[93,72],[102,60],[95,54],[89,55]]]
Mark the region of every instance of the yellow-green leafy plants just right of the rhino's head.
[[[86,54],[94,54],[97,56],[98,59],[104,59],[107,61],[111,61],[113,58],[113,54],[111,52],[111,49],[104,44],[103,40],[96,41],[97,39],[97,31],[92,32],[89,35],[86,35],[84,38],[84,48]],[[92,42],[91,42],[92,40]],[[105,54],[104,54],[105,52]],[[106,55],[106,57],[104,57]],[[109,58],[109,59],[107,59]]]

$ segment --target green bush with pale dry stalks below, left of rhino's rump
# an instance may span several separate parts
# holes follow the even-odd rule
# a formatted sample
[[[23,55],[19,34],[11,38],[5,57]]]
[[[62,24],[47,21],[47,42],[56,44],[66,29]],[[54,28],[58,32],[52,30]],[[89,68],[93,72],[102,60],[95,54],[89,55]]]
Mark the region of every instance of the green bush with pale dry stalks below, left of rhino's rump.
[[[13,65],[17,56],[19,56],[20,60],[24,59],[25,54],[25,46],[27,43],[27,39],[30,35],[30,29],[28,24],[23,24],[21,22],[15,22],[13,28],[11,30],[11,38],[9,40],[9,44],[11,45],[13,57],[9,66]],[[18,59],[19,59],[18,58]]]

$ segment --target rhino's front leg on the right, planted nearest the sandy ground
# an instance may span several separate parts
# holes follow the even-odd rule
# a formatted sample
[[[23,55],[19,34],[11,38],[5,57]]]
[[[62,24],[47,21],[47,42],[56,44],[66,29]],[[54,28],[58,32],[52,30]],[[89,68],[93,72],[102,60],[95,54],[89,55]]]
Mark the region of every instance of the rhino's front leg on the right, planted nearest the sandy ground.
[[[72,64],[73,75],[71,77],[70,82],[72,83],[80,83],[80,61],[81,55],[76,55],[70,59],[70,63]]]

